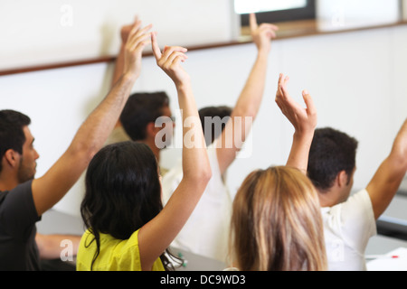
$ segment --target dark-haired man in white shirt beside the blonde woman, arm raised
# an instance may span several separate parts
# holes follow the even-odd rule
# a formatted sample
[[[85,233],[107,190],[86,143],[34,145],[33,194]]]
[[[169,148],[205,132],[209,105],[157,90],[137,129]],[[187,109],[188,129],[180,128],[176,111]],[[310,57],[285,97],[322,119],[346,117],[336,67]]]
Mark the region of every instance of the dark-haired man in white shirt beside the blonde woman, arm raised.
[[[376,219],[389,206],[407,170],[407,120],[393,148],[362,191],[351,195],[357,141],[336,129],[317,129],[308,176],[317,188],[324,219],[329,270],[366,270],[364,250]]]

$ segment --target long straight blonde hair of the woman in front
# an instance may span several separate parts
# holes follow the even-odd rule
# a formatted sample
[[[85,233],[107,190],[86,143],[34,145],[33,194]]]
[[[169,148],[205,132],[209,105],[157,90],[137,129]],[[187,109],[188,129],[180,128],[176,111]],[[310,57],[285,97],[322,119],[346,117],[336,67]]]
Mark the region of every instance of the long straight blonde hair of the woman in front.
[[[320,271],[327,255],[317,191],[297,169],[251,172],[233,201],[230,248],[242,271]]]

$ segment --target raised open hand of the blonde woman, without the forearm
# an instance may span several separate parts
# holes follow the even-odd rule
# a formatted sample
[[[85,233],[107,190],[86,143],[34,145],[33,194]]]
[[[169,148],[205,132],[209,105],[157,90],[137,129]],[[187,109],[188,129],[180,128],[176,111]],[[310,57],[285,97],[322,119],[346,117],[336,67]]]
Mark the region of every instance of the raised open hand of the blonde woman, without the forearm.
[[[313,133],[317,126],[317,108],[307,90],[302,91],[306,108],[301,107],[289,96],[287,83],[289,77],[279,75],[279,87],[276,93],[276,103],[279,109],[289,119],[298,134]]]

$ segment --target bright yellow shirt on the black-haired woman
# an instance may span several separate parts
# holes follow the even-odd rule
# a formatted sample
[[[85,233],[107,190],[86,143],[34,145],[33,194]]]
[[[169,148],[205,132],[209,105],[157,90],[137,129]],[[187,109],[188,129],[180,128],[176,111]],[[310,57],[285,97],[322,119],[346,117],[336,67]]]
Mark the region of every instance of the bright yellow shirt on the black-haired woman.
[[[78,271],[90,271],[93,256],[96,253],[96,241],[87,230],[80,239],[76,261]],[[91,242],[91,243],[90,243]],[[138,230],[127,240],[100,234],[100,253],[93,264],[93,271],[141,271],[140,252],[138,249]],[[156,259],[152,271],[164,271],[160,258]]]

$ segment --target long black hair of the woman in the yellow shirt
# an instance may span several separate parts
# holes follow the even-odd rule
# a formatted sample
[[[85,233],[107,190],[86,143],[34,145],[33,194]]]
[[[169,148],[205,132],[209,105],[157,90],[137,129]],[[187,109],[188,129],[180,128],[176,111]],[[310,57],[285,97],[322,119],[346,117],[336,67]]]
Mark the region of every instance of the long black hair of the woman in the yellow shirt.
[[[80,214],[97,244],[92,266],[100,233],[128,239],[163,209],[156,157],[146,144],[103,147],[90,161],[85,188]],[[166,270],[173,268],[164,254],[160,257]]]

